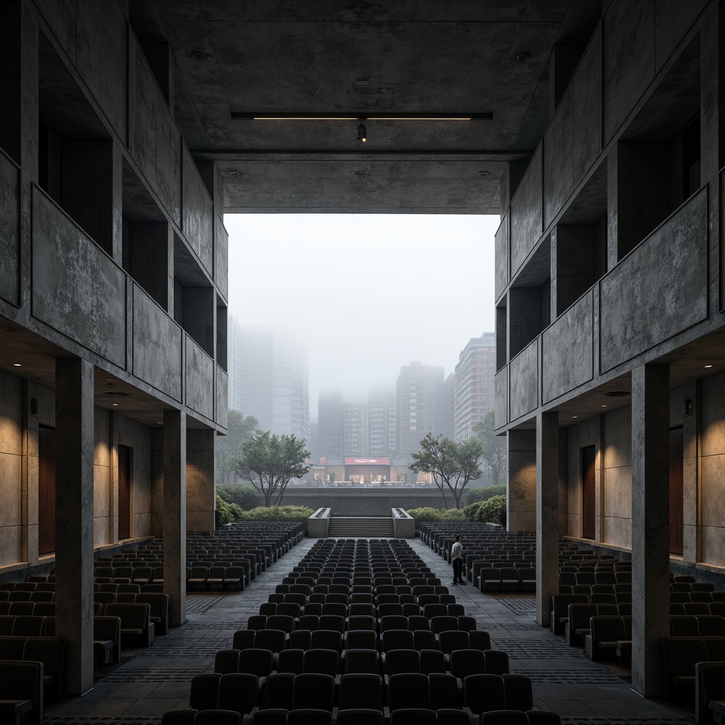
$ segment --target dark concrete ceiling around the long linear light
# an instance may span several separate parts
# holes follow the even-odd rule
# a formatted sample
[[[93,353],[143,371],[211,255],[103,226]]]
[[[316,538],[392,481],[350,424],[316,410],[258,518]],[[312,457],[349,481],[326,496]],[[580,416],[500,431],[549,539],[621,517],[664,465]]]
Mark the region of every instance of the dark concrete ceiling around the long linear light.
[[[138,40],[173,50],[176,123],[196,159],[218,162],[227,212],[497,213],[505,162],[528,159],[548,123],[553,46],[587,43],[600,12],[601,0],[130,0]],[[336,120],[234,117],[249,114]],[[368,120],[449,114],[490,117]]]

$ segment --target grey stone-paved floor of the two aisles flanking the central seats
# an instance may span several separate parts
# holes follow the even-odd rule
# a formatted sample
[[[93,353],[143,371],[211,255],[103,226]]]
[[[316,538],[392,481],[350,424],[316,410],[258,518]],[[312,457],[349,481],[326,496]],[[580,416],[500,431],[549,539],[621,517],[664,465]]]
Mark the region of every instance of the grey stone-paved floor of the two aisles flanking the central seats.
[[[149,649],[124,650],[120,666],[107,668],[88,695],[48,705],[46,723],[157,724],[166,711],[186,707],[191,678],[213,671],[217,650],[231,647],[233,632],[246,626],[314,541],[303,539],[244,592],[189,595],[186,625],[158,637]],[[420,539],[411,544],[444,583],[451,578],[450,566]],[[694,723],[692,711],[632,692],[624,668],[593,663],[539,627],[534,595],[483,595],[471,584],[451,589],[479,629],[489,631],[492,646],[508,653],[511,671],[531,677],[534,705],[558,712],[564,724]]]

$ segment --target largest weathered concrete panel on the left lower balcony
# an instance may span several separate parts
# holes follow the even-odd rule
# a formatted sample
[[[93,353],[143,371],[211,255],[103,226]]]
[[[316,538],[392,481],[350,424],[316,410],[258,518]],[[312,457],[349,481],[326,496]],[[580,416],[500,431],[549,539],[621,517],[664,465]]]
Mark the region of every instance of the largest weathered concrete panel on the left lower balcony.
[[[126,276],[33,186],[33,316],[121,368]]]

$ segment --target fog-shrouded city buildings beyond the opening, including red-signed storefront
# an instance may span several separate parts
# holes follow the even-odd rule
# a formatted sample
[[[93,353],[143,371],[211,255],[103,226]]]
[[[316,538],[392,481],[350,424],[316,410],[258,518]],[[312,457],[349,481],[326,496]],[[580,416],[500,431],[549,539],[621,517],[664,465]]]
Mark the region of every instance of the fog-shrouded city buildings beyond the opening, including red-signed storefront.
[[[448,376],[442,365],[412,362],[401,366],[397,381],[368,391],[364,402],[345,402],[340,389],[323,389],[311,423],[305,346],[228,318],[230,409],[254,415],[262,430],[304,439],[313,484],[429,484],[426,474],[408,470],[410,455],[428,433],[470,438],[494,408],[495,372],[495,336],[484,332],[465,344]]]

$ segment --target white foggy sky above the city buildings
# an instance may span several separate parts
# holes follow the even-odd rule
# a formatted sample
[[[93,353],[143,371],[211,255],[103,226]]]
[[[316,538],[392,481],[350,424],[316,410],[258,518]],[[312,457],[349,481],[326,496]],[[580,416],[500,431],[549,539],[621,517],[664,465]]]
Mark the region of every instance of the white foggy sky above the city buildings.
[[[494,330],[494,233],[482,215],[225,215],[229,313],[305,340],[318,392],[365,402],[420,360],[452,373]]]

